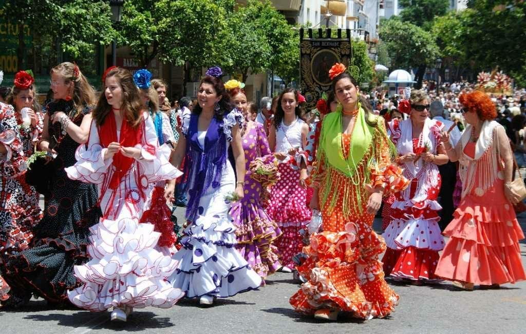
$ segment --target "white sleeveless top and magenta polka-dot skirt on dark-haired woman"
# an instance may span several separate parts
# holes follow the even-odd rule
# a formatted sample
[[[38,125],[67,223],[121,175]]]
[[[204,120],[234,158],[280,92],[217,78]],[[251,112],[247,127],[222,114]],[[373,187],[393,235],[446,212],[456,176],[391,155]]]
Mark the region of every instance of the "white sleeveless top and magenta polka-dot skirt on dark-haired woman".
[[[295,264],[292,257],[301,252],[303,236],[301,229],[305,229],[311,219],[312,212],[307,207],[307,189],[299,183],[299,163],[301,159],[307,164],[307,153],[303,150],[301,127],[305,122],[299,117],[290,125],[281,122],[276,129],[275,152],[284,152],[292,148],[299,148],[296,156],[287,156],[279,161],[278,171],[280,179],[272,187],[270,204],[267,213],[274,220],[283,234],[275,241],[281,256],[281,265],[293,269]]]

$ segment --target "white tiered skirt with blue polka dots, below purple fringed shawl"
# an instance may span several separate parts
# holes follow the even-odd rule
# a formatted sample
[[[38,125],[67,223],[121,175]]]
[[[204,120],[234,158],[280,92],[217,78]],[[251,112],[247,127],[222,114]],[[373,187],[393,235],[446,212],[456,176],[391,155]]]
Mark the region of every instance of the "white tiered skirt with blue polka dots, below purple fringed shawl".
[[[230,297],[261,285],[261,278],[233,248],[235,226],[226,217],[199,216],[184,234],[183,248],[173,257],[179,264],[168,281],[186,297]]]

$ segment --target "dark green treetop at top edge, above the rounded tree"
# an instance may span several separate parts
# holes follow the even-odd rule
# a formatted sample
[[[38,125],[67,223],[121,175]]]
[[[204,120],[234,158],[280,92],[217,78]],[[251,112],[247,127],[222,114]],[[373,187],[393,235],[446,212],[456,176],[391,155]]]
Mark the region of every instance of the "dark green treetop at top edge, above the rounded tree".
[[[429,31],[435,16],[446,14],[449,0],[399,0],[403,6],[400,18]]]

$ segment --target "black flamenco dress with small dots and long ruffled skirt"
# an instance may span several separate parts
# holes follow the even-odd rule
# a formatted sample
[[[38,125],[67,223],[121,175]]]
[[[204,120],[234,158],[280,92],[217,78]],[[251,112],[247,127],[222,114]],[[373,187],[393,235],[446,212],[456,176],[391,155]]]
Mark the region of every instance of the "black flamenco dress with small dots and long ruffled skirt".
[[[48,116],[65,112],[76,125],[92,110],[85,107],[77,113],[73,103],[64,100],[51,102],[45,109]],[[51,195],[46,198],[44,217],[33,229],[31,245],[5,261],[3,275],[12,296],[27,299],[33,294],[62,303],[68,300],[66,291],[79,285],[73,266],[88,260],[89,227],[98,223],[101,212],[96,185],[70,180],[64,170],[75,164],[79,144],[62,134],[59,123],[49,124],[48,129],[49,137],[58,143],[57,156],[51,162]]]

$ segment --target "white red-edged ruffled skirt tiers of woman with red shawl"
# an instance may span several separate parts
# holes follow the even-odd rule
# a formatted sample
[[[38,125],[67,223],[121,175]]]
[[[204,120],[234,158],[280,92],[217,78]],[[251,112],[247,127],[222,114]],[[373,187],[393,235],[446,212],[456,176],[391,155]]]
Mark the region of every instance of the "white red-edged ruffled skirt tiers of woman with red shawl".
[[[92,311],[122,305],[168,308],[184,296],[165,280],[177,262],[154,249],[160,236],[154,225],[132,218],[102,219],[90,231],[92,259],[75,266],[75,276],[84,285],[68,291],[76,306]]]

